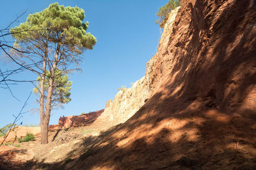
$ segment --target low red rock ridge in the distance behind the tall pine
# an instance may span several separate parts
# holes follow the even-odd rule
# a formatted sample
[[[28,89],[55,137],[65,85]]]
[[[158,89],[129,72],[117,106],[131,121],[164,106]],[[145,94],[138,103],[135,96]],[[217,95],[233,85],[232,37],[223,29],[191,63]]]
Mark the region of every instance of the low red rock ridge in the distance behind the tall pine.
[[[60,117],[58,127],[78,127],[92,124],[104,110],[93,111],[79,116]]]

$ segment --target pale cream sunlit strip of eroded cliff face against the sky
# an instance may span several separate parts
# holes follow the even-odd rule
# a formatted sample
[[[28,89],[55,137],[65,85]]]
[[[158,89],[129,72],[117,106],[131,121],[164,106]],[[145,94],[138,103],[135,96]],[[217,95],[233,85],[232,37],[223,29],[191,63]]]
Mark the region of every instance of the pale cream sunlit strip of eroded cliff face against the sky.
[[[178,10],[179,8],[171,11],[168,19],[166,19],[163,34],[161,35],[161,41],[159,42],[159,50],[156,55],[147,62],[145,76],[136,81],[131,88],[120,90],[113,99],[112,114],[114,124],[124,123],[131,118],[132,115],[134,115],[134,113],[148,101],[154,91],[157,90],[157,87],[161,84],[161,82],[156,83],[155,79],[157,75],[156,71],[154,71],[154,66],[156,66],[159,53],[168,46],[168,39],[170,38],[172,25]]]

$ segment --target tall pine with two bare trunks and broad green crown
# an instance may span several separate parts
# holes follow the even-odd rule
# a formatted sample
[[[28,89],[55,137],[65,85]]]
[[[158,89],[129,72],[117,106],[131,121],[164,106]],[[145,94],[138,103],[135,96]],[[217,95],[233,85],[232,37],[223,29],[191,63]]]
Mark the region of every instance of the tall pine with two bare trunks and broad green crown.
[[[42,144],[48,143],[48,126],[54,101],[52,96],[58,82],[56,69],[60,69],[63,74],[80,70],[81,53],[92,49],[96,43],[96,38],[86,32],[88,22],[83,22],[84,17],[84,10],[77,6],[64,7],[54,3],[43,11],[30,14],[26,22],[10,30],[16,41],[13,46],[19,49],[13,50],[13,59],[20,66],[28,66],[26,69],[41,79],[38,91]],[[68,68],[75,64],[77,67]],[[47,71],[50,76],[46,76]],[[49,80],[45,80],[47,77]]]

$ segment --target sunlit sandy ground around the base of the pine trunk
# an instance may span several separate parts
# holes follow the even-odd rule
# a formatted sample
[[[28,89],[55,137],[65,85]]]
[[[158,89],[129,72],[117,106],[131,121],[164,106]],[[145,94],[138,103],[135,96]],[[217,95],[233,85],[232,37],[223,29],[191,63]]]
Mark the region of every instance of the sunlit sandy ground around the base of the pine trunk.
[[[61,166],[82,155],[112,131],[109,124],[100,122],[83,127],[50,130],[47,145],[40,144],[40,133],[35,135],[35,141],[14,141],[12,145],[0,147],[0,169],[37,169],[41,164],[43,169],[45,166],[47,169]],[[56,163],[58,166],[54,166]]]

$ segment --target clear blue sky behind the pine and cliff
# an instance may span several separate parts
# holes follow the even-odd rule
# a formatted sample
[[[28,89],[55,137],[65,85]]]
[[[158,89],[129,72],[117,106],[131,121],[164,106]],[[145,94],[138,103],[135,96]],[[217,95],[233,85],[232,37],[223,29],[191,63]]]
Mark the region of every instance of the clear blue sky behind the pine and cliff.
[[[17,15],[27,10],[19,22],[25,22],[29,13],[42,11],[56,1],[3,1],[1,2],[0,29],[6,27]],[[168,0],[63,0],[64,6],[78,6],[85,11],[84,22],[90,22],[88,32],[97,38],[93,50],[83,53],[83,73],[69,76],[73,81],[72,101],[64,109],[54,110],[50,124],[58,124],[62,115],[79,115],[81,112],[100,110],[109,99],[113,99],[122,85],[131,87],[144,76],[146,63],[157,51],[159,25],[156,13]],[[19,25],[15,23],[13,26]],[[3,53],[0,53],[1,57]],[[1,58],[0,57],[0,58]],[[0,67],[6,65],[0,60]],[[35,79],[35,74],[22,74],[24,78]],[[33,89],[30,83],[12,85],[11,89],[17,101],[6,89],[0,89],[0,127],[13,121],[29,93]],[[25,111],[38,108],[36,97],[32,95]],[[20,120],[24,124],[38,124],[39,113],[26,113]],[[19,122],[20,122],[19,121]]]

